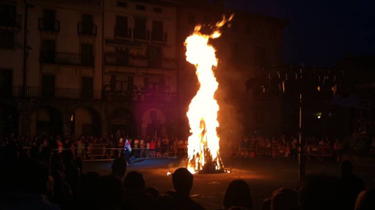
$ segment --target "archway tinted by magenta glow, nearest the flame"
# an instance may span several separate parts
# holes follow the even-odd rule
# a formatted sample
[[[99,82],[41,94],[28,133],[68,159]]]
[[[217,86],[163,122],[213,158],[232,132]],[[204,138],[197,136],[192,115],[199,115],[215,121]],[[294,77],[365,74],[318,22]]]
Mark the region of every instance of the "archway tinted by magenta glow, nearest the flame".
[[[165,114],[159,109],[148,109],[142,115],[142,136],[162,137],[166,134]]]

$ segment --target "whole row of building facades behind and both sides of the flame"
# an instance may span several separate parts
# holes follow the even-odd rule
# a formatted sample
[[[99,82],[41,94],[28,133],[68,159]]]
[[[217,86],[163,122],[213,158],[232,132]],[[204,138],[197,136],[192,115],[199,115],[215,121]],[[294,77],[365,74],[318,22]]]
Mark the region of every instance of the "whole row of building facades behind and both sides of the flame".
[[[221,18],[220,1],[26,2],[0,1],[0,133],[188,134],[198,84],[183,43],[196,24]],[[233,12],[213,43],[222,132],[256,124],[264,104],[248,97],[245,81],[281,63],[286,24]]]

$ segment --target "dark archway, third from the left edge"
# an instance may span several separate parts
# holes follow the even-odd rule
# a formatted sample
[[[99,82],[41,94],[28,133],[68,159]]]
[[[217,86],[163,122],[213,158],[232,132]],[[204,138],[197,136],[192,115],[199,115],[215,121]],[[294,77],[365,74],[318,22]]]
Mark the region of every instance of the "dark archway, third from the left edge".
[[[102,119],[99,113],[89,107],[81,107],[70,116],[72,121],[72,133],[84,136],[100,136],[102,131]]]

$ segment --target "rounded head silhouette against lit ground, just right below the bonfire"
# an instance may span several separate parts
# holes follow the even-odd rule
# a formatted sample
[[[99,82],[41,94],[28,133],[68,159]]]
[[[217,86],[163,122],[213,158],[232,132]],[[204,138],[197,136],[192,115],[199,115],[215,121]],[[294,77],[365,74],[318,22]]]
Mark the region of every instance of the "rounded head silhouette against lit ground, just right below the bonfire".
[[[224,208],[231,206],[245,207],[253,209],[253,200],[250,189],[245,181],[237,179],[232,181],[224,194],[223,199]]]

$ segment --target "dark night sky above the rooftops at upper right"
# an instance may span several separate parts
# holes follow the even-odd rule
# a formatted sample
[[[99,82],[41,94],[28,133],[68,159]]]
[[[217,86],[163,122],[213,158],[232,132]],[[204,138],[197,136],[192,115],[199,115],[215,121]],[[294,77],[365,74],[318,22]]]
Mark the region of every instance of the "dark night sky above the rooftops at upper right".
[[[283,34],[287,64],[332,65],[347,56],[375,55],[375,3],[370,0],[225,2],[232,8],[289,20]]]

